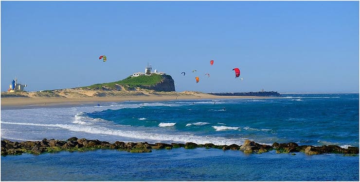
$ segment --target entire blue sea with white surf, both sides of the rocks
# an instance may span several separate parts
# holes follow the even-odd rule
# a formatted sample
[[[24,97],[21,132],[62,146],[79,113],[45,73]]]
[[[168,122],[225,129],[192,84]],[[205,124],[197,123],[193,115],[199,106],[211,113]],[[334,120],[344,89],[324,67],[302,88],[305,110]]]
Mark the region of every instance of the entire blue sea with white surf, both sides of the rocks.
[[[359,94],[107,102],[1,110],[1,139],[359,147]],[[359,156],[221,149],[1,156],[2,181],[359,181]]]

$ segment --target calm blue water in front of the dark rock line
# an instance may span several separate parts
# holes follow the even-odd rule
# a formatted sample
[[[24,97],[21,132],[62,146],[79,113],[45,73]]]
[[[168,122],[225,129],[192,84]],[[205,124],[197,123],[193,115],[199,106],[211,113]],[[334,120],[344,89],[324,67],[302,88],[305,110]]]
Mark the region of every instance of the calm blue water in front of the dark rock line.
[[[221,149],[1,157],[2,181],[359,181],[359,157]]]

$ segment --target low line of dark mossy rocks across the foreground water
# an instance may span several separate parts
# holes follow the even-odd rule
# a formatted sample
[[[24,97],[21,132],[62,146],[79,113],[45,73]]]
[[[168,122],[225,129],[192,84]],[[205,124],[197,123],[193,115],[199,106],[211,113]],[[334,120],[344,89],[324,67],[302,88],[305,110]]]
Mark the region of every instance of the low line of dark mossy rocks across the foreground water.
[[[58,151],[87,151],[95,149],[116,149],[125,150],[129,152],[151,152],[152,149],[173,149],[173,148],[214,148],[222,150],[240,150],[245,153],[263,153],[270,150],[276,150],[277,153],[289,153],[289,152],[304,152],[308,155],[323,154],[323,153],[340,153],[345,155],[358,155],[358,147],[349,147],[343,149],[339,146],[299,146],[296,143],[274,143],[272,146],[255,143],[254,141],[246,140],[244,145],[214,145],[211,143],[207,144],[196,144],[188,142],[185,144],[181,143],[155,143],[149,144],[147,142],[121,142],[116,141],[111,144],[106,141],[99,140],[88,140],[85,138],[69,138],[67,141],[61,140],[47,140],[42,141],[25,141],[25,142],[12,142],[10,140],[1,140],[1,155],[19,155],[22,153],[41,154],[46,152],[58,152]],[[295,153],[293,153],[295,154]]]

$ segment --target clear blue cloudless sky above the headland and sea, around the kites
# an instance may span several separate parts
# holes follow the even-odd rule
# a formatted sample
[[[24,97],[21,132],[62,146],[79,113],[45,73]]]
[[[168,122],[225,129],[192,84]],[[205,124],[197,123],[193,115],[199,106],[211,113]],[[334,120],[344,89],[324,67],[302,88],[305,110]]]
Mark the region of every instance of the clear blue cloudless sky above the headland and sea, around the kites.
[[[179,92],[359,92],[359,1],[1,1],[1,91],[15,77],[27,91],[115,82],[147,63]]]

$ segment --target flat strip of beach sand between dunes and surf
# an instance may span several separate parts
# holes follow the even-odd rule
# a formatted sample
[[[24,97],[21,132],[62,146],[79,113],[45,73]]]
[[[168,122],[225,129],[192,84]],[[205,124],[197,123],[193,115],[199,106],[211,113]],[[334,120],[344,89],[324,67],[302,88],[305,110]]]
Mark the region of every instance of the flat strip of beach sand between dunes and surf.
[[[170,100],[200,100],[200,99],[269,99],[270,97],[256,96],[215,96],[211,94],[197,95],[141,95],[119,97],[87,97],[87,98],[55,98],[55,97],[8,97],[1,98],[1,110],[29,109],[42,107],[73,107],[90,105],[101,102],[125,102],[125,101],[170,101]]]

